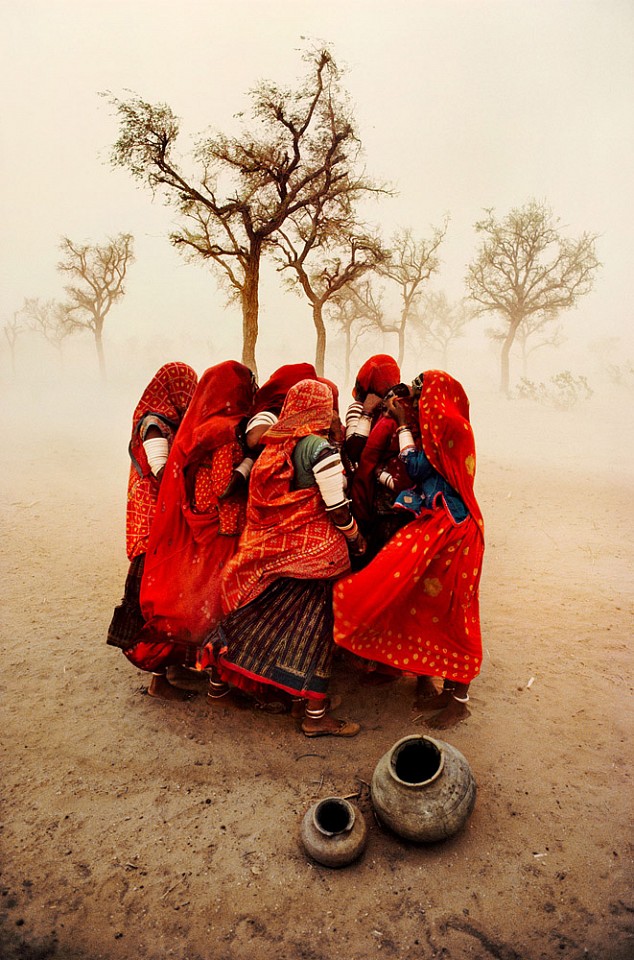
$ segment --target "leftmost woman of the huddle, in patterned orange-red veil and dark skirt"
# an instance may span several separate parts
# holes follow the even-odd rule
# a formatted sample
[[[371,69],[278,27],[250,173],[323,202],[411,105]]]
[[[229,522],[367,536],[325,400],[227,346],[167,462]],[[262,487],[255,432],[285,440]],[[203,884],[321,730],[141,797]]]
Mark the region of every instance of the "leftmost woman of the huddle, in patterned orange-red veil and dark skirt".
[[[124,595],[108,628],[107,642],[126,650],[143,627],[139,590],[161,477],[176,431],[198,377],[186,363],[166,363],[143,391],[132,416],[126,507],[126,553],[130,568]]]

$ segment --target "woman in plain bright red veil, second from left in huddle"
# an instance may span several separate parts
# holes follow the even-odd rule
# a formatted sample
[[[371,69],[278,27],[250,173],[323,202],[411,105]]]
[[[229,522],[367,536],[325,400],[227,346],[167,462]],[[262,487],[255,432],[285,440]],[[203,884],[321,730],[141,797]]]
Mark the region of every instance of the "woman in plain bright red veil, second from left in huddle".
[[[169,668],[194,667],[200,641],[220,618],[220,571],[246,511],[246,489],[226,490],[244,456],[254,389],[241,363],[206,370],[170,451],[141,582],[145,624],[125,651],[154,674],[153,696],[173,699]]]

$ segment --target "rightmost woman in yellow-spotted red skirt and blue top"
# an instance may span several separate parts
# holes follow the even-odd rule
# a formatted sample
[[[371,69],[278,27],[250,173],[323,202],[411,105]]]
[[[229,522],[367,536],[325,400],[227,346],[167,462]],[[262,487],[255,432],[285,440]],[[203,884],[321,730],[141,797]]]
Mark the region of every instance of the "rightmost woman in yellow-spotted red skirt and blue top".
[[[413,519],[364,570],[334,590],[335,642],[359,657],[416,674],[416,707],[439,711],[444,729],[468,716],[469,684],[480,672],[478,590],[484,524],[474,489],[475,444],[469,401],[449,374],[428,370],[418,396],[417,447],[404,405],[394,398],[401,459],[411,489],[396,507]],[[437,692],[432,678],[443,679]]]

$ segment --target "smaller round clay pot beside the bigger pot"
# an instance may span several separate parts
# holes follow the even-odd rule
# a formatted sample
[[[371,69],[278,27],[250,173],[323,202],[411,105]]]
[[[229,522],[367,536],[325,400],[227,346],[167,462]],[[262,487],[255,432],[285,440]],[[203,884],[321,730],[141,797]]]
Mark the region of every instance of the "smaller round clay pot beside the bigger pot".
[[[314,803],[301,825],[306,852],[326,867],[345,867],[363,853],[368,831],[360,810],[341,797]]]

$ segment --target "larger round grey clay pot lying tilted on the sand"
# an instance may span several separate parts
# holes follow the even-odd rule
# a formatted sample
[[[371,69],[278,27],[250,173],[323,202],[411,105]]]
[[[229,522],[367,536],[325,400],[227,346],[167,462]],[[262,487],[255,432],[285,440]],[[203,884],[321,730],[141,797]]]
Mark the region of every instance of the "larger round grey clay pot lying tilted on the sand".
[[[444,740],[403,737],[376,765],[372,803],[380,820],[418,843],[453,836],[473,810],[476,784],[466,759]]]

